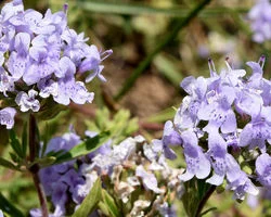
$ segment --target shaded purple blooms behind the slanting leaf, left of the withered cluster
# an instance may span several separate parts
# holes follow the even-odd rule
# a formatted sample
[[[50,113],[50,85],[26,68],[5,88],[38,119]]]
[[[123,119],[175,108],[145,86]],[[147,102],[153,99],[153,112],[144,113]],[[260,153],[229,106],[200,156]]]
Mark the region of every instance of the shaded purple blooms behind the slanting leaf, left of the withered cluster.
[[[62,137],[53,138],[47,145],[46,153],[51,151],[68,151],[80,143],[80,137],[74,132],[65,133]],[[54,215],[63,216],[66,213],[65,205],[70,199],[78,202],[77,186],[86,183],[85,178],[75,170],[76,161],[65,162],[51,167],[42,168],[39,171],[44,192],[51,197],[54,205]]]

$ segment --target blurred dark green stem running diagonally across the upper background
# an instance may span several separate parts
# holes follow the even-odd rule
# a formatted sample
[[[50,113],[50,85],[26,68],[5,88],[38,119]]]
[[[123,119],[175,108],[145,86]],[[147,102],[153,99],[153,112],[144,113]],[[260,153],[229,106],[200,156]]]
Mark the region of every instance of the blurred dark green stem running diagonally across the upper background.
[[[132,75],[127,79],[127,81],[125,82],[125,85],[122,86],[122,89],[120,89],[120,91],[117,93],[117,95],[115,97],[115,100],[120,100],[121,97],[125,95],[126,92],[128,92],[130,90],[130,88],[133,86],[133,84],[136,82],[137,78],[147,68],[147,66],[151,64],[152,60],[154,59],[154,56],[159,53],[170,41],[172,41],[178,33],[185,27],[191,21],[192,18],[194,18],[203,9],[206,4],[208,4],[210,2],[210,0],[203,0],[198,5],[196,5],[194,9],[192,9],[192,11],[189,13],[189,15],[179,21],[177,25],[175,26],[175,28],[172,29],[172,31],[170,31],[169,35],[167,35],[164,40],[162,40],[160,43],[158,43],[158,46],[153,50],[153,52],[151,52],[141,63],[140,65],[133,71]]]

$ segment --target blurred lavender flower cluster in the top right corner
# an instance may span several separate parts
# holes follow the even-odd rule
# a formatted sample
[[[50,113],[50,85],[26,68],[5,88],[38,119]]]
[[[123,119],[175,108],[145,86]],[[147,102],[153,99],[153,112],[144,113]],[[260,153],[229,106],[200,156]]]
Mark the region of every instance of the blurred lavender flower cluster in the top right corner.
[[[253,39],[262,43],[271,39],[271,3],[269,0],[258,0],[248,13],[251,21]]]

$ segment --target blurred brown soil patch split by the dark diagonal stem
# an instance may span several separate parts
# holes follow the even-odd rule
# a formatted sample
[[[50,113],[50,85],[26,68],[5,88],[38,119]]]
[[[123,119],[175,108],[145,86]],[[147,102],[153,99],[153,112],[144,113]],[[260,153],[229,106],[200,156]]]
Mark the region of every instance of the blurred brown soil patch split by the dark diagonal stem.
[[[106,62],[104,76],[107,82],[103,88],[114,95],[120,90],[130,76],[130,72],[134,68],[126,64],[119,65],[117,61]],[[130,110],[133,116],[143,118],[172,106],[175,95],[175,87],[159,76],[155,68],[151,68],[138,78],[119,104],[121,107]]]

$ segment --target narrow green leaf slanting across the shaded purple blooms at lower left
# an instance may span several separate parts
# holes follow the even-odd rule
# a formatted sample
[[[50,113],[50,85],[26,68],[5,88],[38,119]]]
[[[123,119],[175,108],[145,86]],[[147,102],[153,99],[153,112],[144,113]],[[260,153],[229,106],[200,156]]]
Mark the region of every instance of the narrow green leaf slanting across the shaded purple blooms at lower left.
[[[60,164],[62,162],[68,162],[76,157],[89,154],[100,148],[103,143],[105,143],[109,139],[109,132],[101,132],[93,138],[88,138],[80,144],[77,144],[68,152],[56,156],[56,161],[54,164]]]

